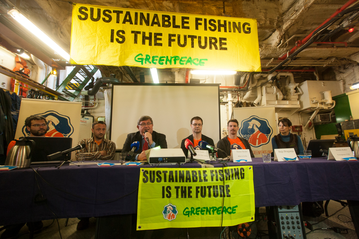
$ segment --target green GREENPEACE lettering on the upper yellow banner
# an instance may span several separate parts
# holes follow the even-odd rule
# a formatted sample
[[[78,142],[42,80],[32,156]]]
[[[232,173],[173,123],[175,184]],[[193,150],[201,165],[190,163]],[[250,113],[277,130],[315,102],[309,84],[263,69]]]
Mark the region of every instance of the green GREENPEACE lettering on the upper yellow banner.
[[[204,66],[205,61],[208,61],[208,59],[199,59],[199,58],[192,58],[192,57],[179,57],[179,56],[150,56],[148,54],[143,57],[143,54],[137,54],[135,56],[135,62],[140,62],[141,65],[143,64],[160,64],[160,65],[188,65],[191,66]]]

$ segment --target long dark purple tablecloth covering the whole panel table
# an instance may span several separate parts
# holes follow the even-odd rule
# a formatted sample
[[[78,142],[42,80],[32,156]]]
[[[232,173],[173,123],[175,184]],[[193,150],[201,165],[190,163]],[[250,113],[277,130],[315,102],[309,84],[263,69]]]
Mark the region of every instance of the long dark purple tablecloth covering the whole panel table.
[[[359,200],[358,161],[312,158],[300,159],[297,162],[263,163],[262,158],[252,160],[253,162],[243,164],[228,163],[228,166],[253,166],[256,207],[298,205],[304,201],[329,199]],[[222,167],[222,164],[213,166]],[[197,163],[186,163],[181,167],[201,166]],[[51,185],[88,199],[62,192],[37,178],[49,208],[59,218],[75,218],[135,213],[139,172],[140,167],[136,166],[93,165],[38,169],[38,173]],[[54,218],[43,202],[34,202],[38,193],[35,172],[32,169],[0,172],[0,225]],[[91,200],[118,197],[121,198],[112,201]]]

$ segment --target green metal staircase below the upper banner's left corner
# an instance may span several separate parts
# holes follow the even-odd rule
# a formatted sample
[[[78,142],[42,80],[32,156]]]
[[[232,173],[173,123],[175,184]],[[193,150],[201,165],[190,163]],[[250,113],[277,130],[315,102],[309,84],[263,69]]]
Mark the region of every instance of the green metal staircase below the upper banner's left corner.
[[[56,91],[59,93],[64,93],[69,95],[69,99],[58,96],[59,100],[63,101],[73,101],[81,92],[82,89],[87,85],[87,83],[93,78],[93,75],[97,72],[98,68],[93,66],[91,69],[88,65],[76,66],[74,70],[66,77],[66,79],[57,87]],[[81,80],[76,74],[79,74],[84,78]],[[75,80],[77,83],[71,83],[71,80]],[[70,92],[69,90],[74,90],[75,92]]]

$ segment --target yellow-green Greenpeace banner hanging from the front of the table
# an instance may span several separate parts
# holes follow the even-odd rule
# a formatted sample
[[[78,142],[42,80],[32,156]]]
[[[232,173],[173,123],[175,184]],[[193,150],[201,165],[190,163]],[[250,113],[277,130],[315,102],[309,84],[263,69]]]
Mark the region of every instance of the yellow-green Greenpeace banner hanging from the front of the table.
[[[141,168],[137,230],[232,226],[254,209],[252,166]]]

